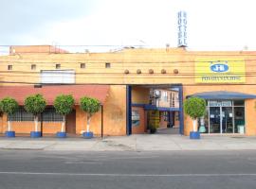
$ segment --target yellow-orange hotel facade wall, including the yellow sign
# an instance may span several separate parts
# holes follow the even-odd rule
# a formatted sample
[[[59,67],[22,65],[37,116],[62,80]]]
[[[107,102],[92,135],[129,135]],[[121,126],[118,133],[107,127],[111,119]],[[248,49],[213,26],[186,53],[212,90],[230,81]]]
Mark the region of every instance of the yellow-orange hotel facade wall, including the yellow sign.
[[[206,98],[209,105],[208,117],[205,117],[204,123],[208,125],[206,133],[241,134],[242,129],[238,129],[243,125],[246,135],[256,135],[255,99],[253,97],[253,94],[256,94],[256,52],[133,48],[109,53],[73,54],[52,51],[29,53],[27,50],[25,52],[24,49],[18,48],[13,51],[13,48],[11,48],[10,55],[0,57],[0,87],[16,86],[17,93],[21,85],[43,84],[44,87],[42,72],[56,70],[74,71],[74,85],[109,85],[110,90],[103,106],[103,132],[106,135],[125,135],[133,133],[133,130],[134,133],[145,132],[147,128],[145,110],[150,111],[152,108],[147,106],[150,89],[163,87],[179,89],[180,107],[170,110],[180,111],[181,134],[189,135],[192,130],[192,119],[184,114],[182,102],[192,94],[212,93],[211,97]],[[227,99],[212,97],[214,93],[219,94],[217,92],[227,92]],[[236,93],[242,94],[242,97],[232,97],[232,94]],[[132,109],[138,112],[134,115],[139,118],[137,128],[132,127]],[[236,118],[238,119],[241,112],[241,116],[244,116],[243,121],[237,121]],[[100,117],[100,112],[99,115],[95,115],[97,116]],[[2,131],[6,127],[7,118],[5,117],[3,116],[1,122],[0,130]],[[82,131],[84,119],[85,115],[78,107],[77,134]],[[101,119],[94,119],[92,129],[95,133],[101,134]],[[15,128],[15,123],[13,125]],[[223,129],[224,125],[226,129]],[[233,128],[228,132],[230,125]],[[54,133],[58,130],[57,128],[48,129],[47,133]],[[20,129],[19,132],[22,133],[22,130]]]

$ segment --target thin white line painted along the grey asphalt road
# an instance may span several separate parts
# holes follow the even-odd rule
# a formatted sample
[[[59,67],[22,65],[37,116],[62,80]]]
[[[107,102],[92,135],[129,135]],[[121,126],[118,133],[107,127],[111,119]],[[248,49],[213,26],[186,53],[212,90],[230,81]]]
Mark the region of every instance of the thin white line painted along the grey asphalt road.
[[[118,173],[40,173],[40,172],[0,172],[0,175],[50,175],[50,176],[92,176],[92,177],[256,177],[256,173],[227,174],[118,174]]]

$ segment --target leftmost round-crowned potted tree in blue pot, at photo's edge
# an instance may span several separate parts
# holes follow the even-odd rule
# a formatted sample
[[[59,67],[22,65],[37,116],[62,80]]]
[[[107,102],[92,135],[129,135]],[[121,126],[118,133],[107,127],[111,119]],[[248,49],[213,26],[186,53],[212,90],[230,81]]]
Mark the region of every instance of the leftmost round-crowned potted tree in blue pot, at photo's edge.
[[[19,108],[17,101],[11,97],[5,97],[0,102],[1,112],[6,113],[8,116],[16,112]],[[15,137],[15,131],[11,130],[11,121],[8,119],[8,130],[6,131],[7,137]]]

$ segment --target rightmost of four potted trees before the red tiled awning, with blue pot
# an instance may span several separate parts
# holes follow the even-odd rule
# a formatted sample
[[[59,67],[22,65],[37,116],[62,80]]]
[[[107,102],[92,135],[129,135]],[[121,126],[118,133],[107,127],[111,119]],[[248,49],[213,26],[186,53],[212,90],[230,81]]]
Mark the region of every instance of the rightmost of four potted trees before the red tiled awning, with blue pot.
[[[80,99],[80,108],[82,109],[83,112],[86,112],[86,115],[87,115],[86,132],[82,133],[82,136],[84,138],[92,138],[93,137],[93,132],[90,131],[91,117],[95,112],[99,112],[100,107],[101,107],[101,103],[96,98],[90,98],[90,97],[83,96]]]

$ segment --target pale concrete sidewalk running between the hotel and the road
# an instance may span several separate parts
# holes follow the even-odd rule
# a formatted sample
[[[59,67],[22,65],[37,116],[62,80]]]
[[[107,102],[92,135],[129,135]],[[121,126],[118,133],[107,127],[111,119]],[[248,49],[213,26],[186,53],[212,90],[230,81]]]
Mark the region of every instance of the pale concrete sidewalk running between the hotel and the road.
[[[0,137],[0,150],[83,150],[83,151],[152,151],[152,150],[242,150],[256,149],[256,137],[208,136],[190,140],[188,136],[134,134],[94,139],[44,137]]]

